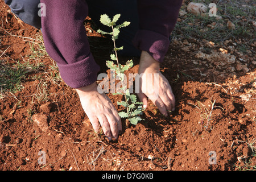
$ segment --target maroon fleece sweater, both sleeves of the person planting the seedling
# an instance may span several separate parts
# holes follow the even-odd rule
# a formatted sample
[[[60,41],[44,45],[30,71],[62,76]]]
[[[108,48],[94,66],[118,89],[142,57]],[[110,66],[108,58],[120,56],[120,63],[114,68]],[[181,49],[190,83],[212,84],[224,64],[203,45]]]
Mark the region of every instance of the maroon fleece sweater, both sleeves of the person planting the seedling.
[[[182,0],[138,0],[139,30],[134,46],[162,62]],[[100,67],[90,52],[84,20],[88,6],[81,0],[41,0],[46,4],[42,32],[46,51],[56,61],[61,78],[72,88],[97,80]]]

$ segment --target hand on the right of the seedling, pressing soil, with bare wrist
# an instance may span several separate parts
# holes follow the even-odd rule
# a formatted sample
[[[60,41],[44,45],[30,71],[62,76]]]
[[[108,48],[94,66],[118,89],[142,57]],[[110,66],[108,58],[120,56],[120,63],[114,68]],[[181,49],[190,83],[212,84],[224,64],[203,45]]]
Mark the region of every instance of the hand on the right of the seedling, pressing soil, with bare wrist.
[[[159,69],[159,63],[149,53],[142,51],[138,74],[143,73],[143,75],[138,97],[144,107],[147,107],[147,98],[150,99],[158,107],[160,113],[167,117],[170,111],[175,110],[175,96],[168,80]],[[152,77],[148,76],[148,73]]]

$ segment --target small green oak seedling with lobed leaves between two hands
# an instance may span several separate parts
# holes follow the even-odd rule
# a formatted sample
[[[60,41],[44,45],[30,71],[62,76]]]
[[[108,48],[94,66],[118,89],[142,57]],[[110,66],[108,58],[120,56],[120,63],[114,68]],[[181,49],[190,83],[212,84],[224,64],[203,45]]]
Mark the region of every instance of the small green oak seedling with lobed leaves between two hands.
[[[125,85],[125,71],[129,68],[133,67],[133,60],[128,60],[125,65],[119,64],[117,51],[123,49],[123,47],[116,47],[115,40],[118,39],[118,35],[120,32],[120,28],[129,26],[130,22],[123,22],[119,25],[116,25],[117,20],[120,18],[120,14],[114,15],[113,19],[110,19],[108,15],[101,15],[100,22],[105,26],[111,27],[112,32],[105,32],[102,30],[98,30],[98,33],[108,34],[112,36],[113,44],[114,44],[114,53],[110,55],[110,59],[112,61],[106,61],[106,65],[108,68],[114,71],[115,77],[117,77],[122,84],[121,92],[113,93],[113,94],[123,94],[125,96],[125,101],[117,102],[118,105],[125,107],[126,111],[120,111],[119,117],[126,118],[126,127],[129,127],[129,122],[133,125],[137,125],[142,118],[139,116],[142,114],[144,110],[142,102],[137,102],[137,96],[134,94],[130,94],[129,89],[126,88]],[[116,61],[117,64],[114,63]]]

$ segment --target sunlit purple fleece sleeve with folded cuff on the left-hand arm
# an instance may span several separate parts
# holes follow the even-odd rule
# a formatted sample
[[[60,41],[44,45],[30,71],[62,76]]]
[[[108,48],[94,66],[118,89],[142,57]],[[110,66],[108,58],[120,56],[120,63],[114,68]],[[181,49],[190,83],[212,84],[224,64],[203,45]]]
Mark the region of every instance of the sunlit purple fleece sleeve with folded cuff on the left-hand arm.
[[[61,78],[72,88],[97,80],[100,67],[90,52],[84,20],[88,6],[81,0],[41,0],[46,5],[42,32],[46,51],[56,61]]]

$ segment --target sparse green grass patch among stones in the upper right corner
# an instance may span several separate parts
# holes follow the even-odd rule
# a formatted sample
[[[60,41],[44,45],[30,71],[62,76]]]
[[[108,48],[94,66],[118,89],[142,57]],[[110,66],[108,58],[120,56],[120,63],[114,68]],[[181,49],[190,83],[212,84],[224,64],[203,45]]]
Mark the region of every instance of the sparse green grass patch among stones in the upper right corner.
[[[205,39],[215,43],[222,43],[228,39],[242,39],[246,40],[248,44],[255,41],[256,28],[252,23],[255,19],[255,6],[238,0],[215,3],[217,5],[217,15],[221,16],[220,19],[209,16],[209,9],[207,13],[201,15],[187,12],[184,16],[179,16],[180,20],[176,23],[172,37]],[[205,5],[208,7],[208,1],[205,2]],[[181,10],[187,11],[187,6],[182,6]],[[229,30],[227,27],[228,21],[235,24],[233,30]],[[214,24],[214,26],[210,26],[211,24]]]

